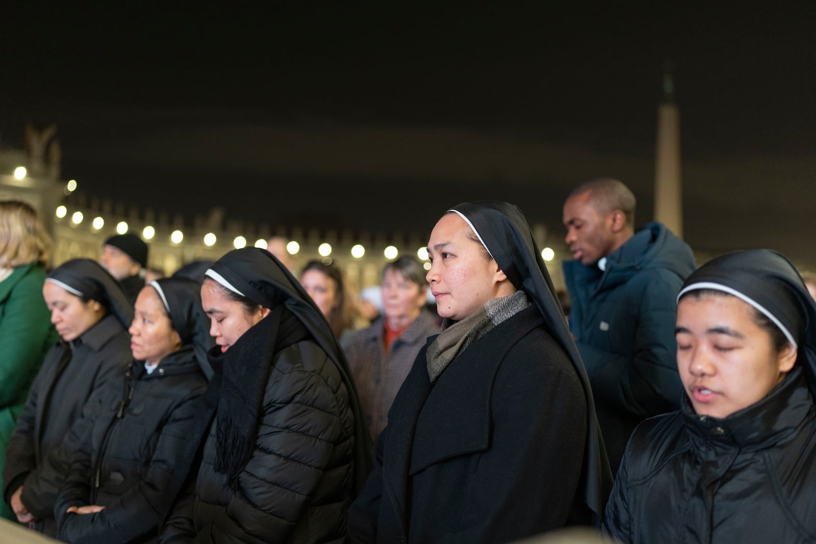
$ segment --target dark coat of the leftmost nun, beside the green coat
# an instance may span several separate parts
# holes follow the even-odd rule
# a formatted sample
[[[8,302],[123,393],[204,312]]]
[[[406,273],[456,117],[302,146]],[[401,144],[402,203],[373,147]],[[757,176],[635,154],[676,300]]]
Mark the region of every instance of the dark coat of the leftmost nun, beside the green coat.
[[[131,337],[111,314],[73,342],[53,347],[34,378],[9,440],[3,497],[9,501],[23,485],[20,498],[43,532],[55,534],[54,500],[65,472],[49,453],[62,443],[91,394],[119,378],[131,360]],[[59,415],[59,424],[46,414]]]

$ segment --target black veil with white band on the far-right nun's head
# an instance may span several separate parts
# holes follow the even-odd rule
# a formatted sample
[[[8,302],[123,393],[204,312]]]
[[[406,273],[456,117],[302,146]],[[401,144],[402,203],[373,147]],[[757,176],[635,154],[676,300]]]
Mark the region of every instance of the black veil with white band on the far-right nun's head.
[[[721,255],[693,272],[681,294],[699,289],[742,294],[783,325],[797,344],[796,365],[804,367],[810,391],[816,396],[816,303],[783,254],[747,250]]]

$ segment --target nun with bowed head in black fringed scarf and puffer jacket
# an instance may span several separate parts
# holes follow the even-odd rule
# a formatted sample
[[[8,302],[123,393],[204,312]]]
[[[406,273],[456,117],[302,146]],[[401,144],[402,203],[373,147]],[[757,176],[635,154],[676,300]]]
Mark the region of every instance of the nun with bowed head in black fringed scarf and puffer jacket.
[[[216,261],[202,303],[220,394],[194,496],[177,504],[161,542],[343,542],[369,445],[328,322],[258,248]]]

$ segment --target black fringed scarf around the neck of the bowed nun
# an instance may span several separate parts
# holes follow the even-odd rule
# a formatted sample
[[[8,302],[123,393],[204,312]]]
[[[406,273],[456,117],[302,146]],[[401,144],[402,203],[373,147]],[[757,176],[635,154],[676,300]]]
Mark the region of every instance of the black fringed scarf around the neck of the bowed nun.
[[[221,395],[215,416],[214,469],[227,475],[235,491],[238,476],[252,456],[255,431],[264,402],[264,392],[277,352],[311,338],[308,329],[292,312],[278,306],[238,338],[227,352],[213,347],[211,364],[223,369]]]

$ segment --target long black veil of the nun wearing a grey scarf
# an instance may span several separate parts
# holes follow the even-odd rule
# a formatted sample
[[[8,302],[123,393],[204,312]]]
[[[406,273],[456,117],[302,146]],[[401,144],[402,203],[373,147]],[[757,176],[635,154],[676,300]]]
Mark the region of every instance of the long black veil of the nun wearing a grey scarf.
[[[606,458],[601,428],[598,427],[587,370],[566,324],[547,266],[533,239],[530,224],[517,206],[507,202],[465,202],[455,206],[452,211],[470,224],[512,285],[517,290],[523,290],[530,302],[539,307],[549,333],[572,360],[583,385],[588,418],[579,493],[583,495],[583,502],[594,513],[593,523],[599,525],[612,490],[612,472]]]

